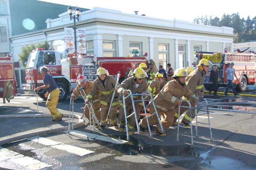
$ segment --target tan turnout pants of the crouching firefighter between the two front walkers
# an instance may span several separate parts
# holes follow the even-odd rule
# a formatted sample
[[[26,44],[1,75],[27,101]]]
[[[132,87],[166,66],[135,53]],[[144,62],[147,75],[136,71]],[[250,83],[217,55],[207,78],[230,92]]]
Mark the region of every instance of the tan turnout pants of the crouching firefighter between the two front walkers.
[[[150,112],[150,114],[155,113],[155,109],[154,109],[153,105],[150,105],[149,112]],[[157,108],[157,113],[158,113],[159,117],[161,117],[162,114],[164,115],[164,118],[161,119],[161,122],[160,122],[162,124],[164,130],[166,130],[167,128],[169,128],[173,124],[173,116],[174,116],[174,113],[175,113],[174,108],[170,109],[170,110],[167,110],[166,112]],[[157,123],[158,122],[157,115],[154,114],[153,116],[149,117],[148,122],[149,122],[149,125],[153,125],[153,124]],[[147,119],[146,119],[146,117],[144,117],[142,119],[142,121],[140,122],[140,126],[142,126],[144,129],[147,129]],[[159,123],[157,125],[157,129],[158,129],[159,132],[162,131]]]

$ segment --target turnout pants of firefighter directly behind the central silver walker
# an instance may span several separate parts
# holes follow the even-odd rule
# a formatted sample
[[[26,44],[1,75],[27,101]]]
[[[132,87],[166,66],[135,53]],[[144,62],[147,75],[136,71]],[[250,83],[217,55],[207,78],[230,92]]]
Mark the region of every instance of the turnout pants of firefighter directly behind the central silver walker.
[[[129,103],[126,107],[126,116],[129,116],[130,114],[133,113],[133,106],[132,106],[132,103]],[[136,109],[136,115],[137,117],[139,117],[139,114],[140,114],[140,110],[142,109],[142,106],[139,106],[139,105],[135,105],[135,109]],[[125,125],[125,115],[124,115],[124,107],[120,105],[120,108],[119,108],[119,116],[120,116],[120,125]],[[136,125],[136,121],[135,121],[135,116],[132,115],[131,117],[129,117],[129,120],[128,120],[128,128],[129,130],[133,130],[133,128],[135,127]]]

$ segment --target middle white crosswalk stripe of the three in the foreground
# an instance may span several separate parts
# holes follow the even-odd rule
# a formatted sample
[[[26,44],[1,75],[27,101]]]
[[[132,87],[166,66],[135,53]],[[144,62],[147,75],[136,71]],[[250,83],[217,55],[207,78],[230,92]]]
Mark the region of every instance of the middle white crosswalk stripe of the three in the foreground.
[[[71,145],[67,145],[61,142],[57,142],[54,140],[50,140],[44,137],[33,137],[33,138],[28,138],[28,140],[46,145],[46,146],[50,146],[56,149],[60,149],[60,150],[64,150],[67,152],[70,152],[72,154],[76,154],[79,156],[83,156],[83,155],[87,155],[87,154],[91,154],[94,153],[94,151],[90,151],[84,148],[80,148],[80,147],[76,147],[76,146],[71,146]]]

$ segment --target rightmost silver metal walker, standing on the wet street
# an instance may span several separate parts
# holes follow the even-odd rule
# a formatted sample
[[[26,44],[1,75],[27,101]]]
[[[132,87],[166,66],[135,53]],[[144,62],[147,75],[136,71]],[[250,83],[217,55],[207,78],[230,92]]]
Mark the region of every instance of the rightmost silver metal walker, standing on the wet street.
[[[196,118],[196,136],[197,136],[197,116],[201,116],[201,115],[204,115],[207,113],[207,116],[208,116],[208,123],[202,123],[202,122],[199,122],[200,124],[206,124],[206,125],[209,125],[209,130],[210,130],[210,136],[211,136],[211,143],[212,143],[212,132],[211,132],[211,122],[210,122],[210,115],[209,115],[209,108],[208,108],[208,102],[206,99],[203,99],[205,102],[206,102],[206,105],[202,105],[202,106],[198,106],[196,105],[196,107],[191,107],[191,103],[189,101],[185,101],[185,100],[182,100],[182,102],[186,102],[188,103],[189,106],[182,106],[182,105],[179,105],[178,107],[178,122],[180,122],[180,107],[185,107],[185,108],[188,108],[189,109],[189,114],[190,114],[190,136],[191,136],[191,148],[194,147],[194,143],[193,143],[193,129],[192,129],[192,109],[195,109],[195,118]],[[207,109],[207,112],[206,113],[203,113],[203,114],[198,114],[200,109],[202,109],[203,107],[206,107]],[[197,112],[197,109],[198,109],[198,112]],[[179,141],[179,135],[180,135],[180,124],[178,124],[178,128],[177,128],[177,141]]]

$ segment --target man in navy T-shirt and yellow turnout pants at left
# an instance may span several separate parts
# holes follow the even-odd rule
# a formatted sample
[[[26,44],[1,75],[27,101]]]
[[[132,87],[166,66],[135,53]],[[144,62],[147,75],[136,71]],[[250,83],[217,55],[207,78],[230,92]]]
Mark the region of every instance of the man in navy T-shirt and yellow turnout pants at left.
[[[56,109],[59,101],[60,90],[57,87],[53,77],[50,74],[48,74],[48,68],[43,66],[40,68],[40,70],[41,75],[44,76],[44,86],[39,86],[35,90],[38,91],[41,89],[46,89],[46,107],[50,110],[50,113],[54,118],[52,121],[62,121],[62,114]]]

